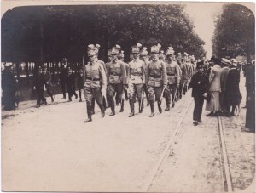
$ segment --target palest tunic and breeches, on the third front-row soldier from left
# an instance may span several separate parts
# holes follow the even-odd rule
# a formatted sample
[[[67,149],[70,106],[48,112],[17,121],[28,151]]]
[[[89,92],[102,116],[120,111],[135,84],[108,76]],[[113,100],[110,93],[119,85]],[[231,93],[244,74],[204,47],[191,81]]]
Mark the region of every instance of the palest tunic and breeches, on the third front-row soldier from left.
[[[128,77],[128,94],[129,99],[140,101],[142,98],[143,84],[145,83],[145,64],[143,60],[132,60],[129,64]]]

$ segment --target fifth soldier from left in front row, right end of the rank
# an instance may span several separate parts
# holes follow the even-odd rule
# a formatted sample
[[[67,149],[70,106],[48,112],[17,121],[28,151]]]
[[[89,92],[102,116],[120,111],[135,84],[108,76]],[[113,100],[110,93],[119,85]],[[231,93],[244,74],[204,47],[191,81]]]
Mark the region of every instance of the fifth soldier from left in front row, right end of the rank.
[[[166,51],[166,73],[167,73],[167,88],[165,93],[166,98],[166,109],[165,111],[170,110],[170,104],[172,102],[172,107],[174,107],[174,99],[176,98],[175,95],[177,94],[177,87],[179,86],[180,82],[180,70],[177,62],[173,61],[174,50],[172,47],[169,47]],[[171,95],[172,94],[172,101]]]

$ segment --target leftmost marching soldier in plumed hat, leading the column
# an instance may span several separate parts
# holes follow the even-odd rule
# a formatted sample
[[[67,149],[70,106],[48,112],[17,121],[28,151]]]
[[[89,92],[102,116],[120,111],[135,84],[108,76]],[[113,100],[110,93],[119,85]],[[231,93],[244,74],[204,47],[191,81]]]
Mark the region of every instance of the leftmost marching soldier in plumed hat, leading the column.
[[[84,66],[84,96],[87,105],[88,119],[84,122],[91,122],[92,118],[92,99],[96,100],[102,110],[102,117],[105,116],[105,107],[102,104],[103,95],[106,94],[107,77],[103,66],[96,60],[95,47],[88,47],[89,62]]]

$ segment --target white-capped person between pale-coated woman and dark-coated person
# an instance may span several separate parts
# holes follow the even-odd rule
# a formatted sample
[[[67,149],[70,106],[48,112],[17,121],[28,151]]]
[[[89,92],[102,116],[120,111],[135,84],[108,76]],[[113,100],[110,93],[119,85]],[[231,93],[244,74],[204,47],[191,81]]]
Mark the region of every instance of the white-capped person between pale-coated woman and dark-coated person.
[[[221,88],[221,93],[219,96],[219,103],[221,106],[221,111],[224,116],[228,116],[228,99],[227,99],[227,94],[226,94],[226,83],[227,83],[227,77],[230,71],[230,65],[231,62],[228,59],[222,58],[221,59],[221,65],[222,65],[222,73],[220,77],[220,88]]]

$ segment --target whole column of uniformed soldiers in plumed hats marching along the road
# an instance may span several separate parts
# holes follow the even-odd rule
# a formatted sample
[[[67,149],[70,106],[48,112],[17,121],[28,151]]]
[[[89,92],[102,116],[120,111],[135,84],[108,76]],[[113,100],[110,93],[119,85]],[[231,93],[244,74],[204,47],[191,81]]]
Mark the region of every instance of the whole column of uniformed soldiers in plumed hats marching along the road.
[[[98,60],[97,55],[100,45],[88,46],[89,62],[84,65],[84,96],[87,106],[88,118],[84,122],[91,122],[94,114],[94,101],[105,116],[105,110],[109,106],[111,113],[116,114],[116,106],[120,105],[119,112],[124,111],[125,99],[129,100],[131,112],[129,117],[135,116],[135,104],[138,112],[142,113],[144,94],[147,104],[150,105],[154,116],[154,105],[157,102],[158,110],[162,113],[161,102],[166,99],[166,111],[170,111],[170,105],[186,94],[190,78],[195,73],[195,57],[188,54],[177,54],[172,47],[160,50],[160,44],[150,48],[150,54],[146,47],[137,43],[131,47],[131,61],[124,62],[125,53],[119,45],[108,50],[108,62]]]

